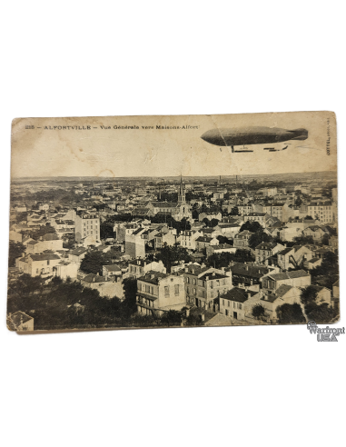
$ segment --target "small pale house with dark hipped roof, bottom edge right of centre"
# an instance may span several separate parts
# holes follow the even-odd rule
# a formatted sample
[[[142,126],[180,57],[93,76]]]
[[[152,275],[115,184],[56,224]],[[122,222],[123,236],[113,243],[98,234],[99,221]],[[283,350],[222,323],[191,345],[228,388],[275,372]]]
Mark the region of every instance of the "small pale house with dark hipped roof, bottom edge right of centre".
[[[235,320],[244,320],[246,309],[252,303],[257,292],[233,287],[227,293],[220,296],[220,313],[231,316]]]

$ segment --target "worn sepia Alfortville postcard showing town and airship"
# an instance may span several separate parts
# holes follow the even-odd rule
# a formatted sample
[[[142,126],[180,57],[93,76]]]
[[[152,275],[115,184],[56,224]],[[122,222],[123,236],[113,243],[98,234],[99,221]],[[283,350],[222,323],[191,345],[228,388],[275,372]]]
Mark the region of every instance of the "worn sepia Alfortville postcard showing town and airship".
[[[16,117],[7,333],[341,321],[337,115]]]

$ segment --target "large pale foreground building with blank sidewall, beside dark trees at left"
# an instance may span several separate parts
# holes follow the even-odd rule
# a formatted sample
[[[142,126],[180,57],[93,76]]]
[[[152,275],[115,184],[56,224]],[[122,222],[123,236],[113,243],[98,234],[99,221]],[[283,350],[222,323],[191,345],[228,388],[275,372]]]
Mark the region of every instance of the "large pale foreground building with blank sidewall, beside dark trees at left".
[[[161,316],[186,305],[183,276],[149,271],[137,280],[137,312]]]

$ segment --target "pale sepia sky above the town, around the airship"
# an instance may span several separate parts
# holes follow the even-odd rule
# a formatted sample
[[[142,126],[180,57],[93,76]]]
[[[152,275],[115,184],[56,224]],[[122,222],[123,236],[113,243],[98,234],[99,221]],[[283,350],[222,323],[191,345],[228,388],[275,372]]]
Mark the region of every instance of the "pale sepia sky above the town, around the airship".
[[[328,117],[330,156],[326,154]],[[35,125],[35,129],[25,129],[25,125]],[[92,130],[45,130],[45,125],[90,125]],[[100,129],[100,125],[111,129]],[[115,130],[114,125],[138,125],[140,129]],[[142,129],[149,125],[154,129]],[[156,125],[197,128],[158,130]],[[228,147],[201,139],[204,132],[216,127],[249,125],[305,128],[309,138],[278,144],[289,144],[283,152],[269,153],[264,146],[253,145],[249,149],[254,152],[249,154],[232,154]],[[14,178],[282,174],[337,169],[335,117],[327,112],[16,118],[12,122],[11,153]]]

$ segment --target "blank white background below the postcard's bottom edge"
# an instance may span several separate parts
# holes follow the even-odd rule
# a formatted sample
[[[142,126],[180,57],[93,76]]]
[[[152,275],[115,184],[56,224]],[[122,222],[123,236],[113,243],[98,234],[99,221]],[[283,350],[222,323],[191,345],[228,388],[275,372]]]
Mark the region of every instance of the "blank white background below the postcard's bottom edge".
[[[324,447],[344,438],[341,343],[2,348],[6,446]]]

